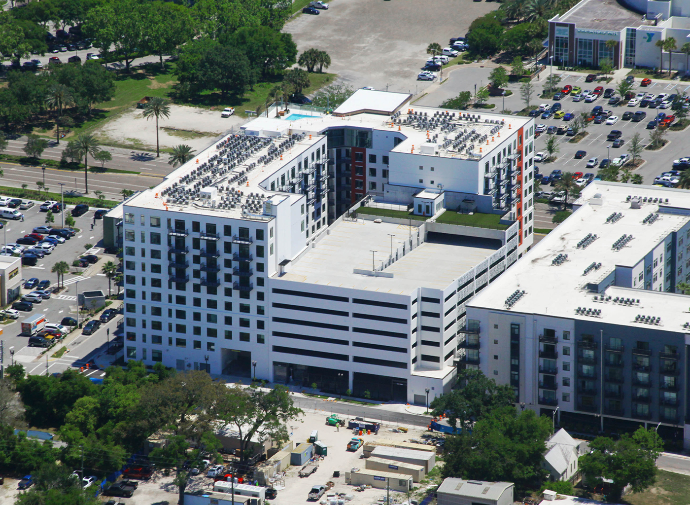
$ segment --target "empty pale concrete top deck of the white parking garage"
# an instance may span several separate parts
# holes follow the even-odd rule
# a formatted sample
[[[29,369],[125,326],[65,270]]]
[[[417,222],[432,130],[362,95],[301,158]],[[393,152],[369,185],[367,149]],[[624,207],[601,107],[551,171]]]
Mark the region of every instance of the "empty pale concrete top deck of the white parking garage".
[[[414,222],[413,222],[414,225]],[[284,280],[322,284],[354,289],[371,289],[391,294],[411,294],[417,287],[445,289],[456,278],[475,267],[495,249],[423,242],[386,267],[390,277],[355,274],[353,269],[371,271],[373,263],[380,269],[391,252],[401,247],[417,227],[375,223],[369,220],[342,221],[331,227],[331,233],[317,242],[316,247],[286,266]],[[416,240],[416,238],[415,238]]]

